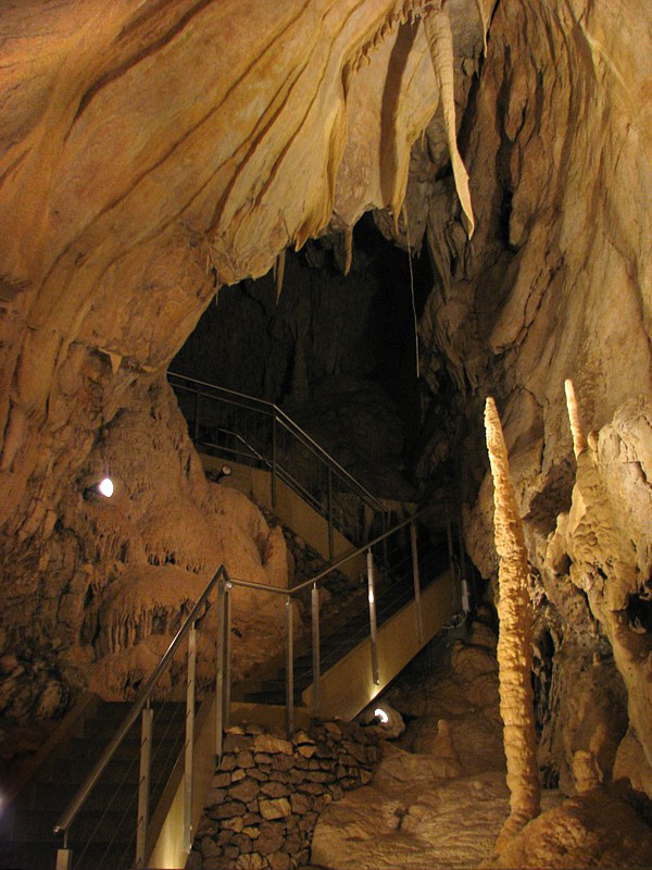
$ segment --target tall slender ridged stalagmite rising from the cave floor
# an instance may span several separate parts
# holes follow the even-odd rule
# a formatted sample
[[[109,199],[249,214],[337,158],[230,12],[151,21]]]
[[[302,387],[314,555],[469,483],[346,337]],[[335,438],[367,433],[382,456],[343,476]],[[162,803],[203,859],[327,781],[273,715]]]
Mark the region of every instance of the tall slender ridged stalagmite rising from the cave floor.
[[[511,837],[538,816],[540,787],[530,683],[532,651],[527,554],[510,480],[507,449],[492,398],[488,398],[485,406],[485,428],[493,477],[493,535],[500,559],[498,667],[510,788],[510,816],[496,844],[497,850],[501,852]]]

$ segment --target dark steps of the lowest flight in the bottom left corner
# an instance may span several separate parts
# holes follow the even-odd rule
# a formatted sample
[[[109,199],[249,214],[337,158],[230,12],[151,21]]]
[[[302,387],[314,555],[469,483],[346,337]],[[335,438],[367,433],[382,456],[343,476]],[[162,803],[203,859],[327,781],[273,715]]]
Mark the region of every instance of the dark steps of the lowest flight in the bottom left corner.
[[[150,808],[159,803],[184,745],[185,704],[154,704],[152,758],[156,775]],[[68,737],[60,743],[2,818],[0,868],[53,870],[60,838],[53,828],[128,712],[130,704],[85,704]],[[135,722],[71,829],[74,870],[123,870],[134,863],[140,723]]]

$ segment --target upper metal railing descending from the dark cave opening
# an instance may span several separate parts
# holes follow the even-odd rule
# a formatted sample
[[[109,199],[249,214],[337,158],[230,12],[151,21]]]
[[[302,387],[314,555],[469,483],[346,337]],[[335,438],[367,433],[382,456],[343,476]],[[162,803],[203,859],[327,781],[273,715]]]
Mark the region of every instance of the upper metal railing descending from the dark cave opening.
[[[271,472],[271,500],[284,481],[355,545],[386,531],[389,511],[301,426],[273,402],[168,372],[192,439],[224,458]]]

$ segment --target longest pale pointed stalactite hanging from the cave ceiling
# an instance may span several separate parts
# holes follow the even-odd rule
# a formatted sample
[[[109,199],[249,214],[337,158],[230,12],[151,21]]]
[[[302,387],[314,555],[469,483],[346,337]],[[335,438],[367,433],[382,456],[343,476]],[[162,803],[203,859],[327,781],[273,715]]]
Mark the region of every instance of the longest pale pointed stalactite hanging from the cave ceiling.
[[[455,188],[464,214],[468,220],[468,238],[471,238],[475,228],[475,221],[473,216],[473,207],[471,204],[471,192],[468,190],[468,173],[466,172],[466,166],[462,162],[460,151],[457,150],[453,88],[453,33],[446,7],[432,9],[424,15],[424,28],[426,32],[426,39],[428,40],[428,48],[430,49],[435,79],[439,88],[443,122],[451,154],[451,164],[455,178]]]

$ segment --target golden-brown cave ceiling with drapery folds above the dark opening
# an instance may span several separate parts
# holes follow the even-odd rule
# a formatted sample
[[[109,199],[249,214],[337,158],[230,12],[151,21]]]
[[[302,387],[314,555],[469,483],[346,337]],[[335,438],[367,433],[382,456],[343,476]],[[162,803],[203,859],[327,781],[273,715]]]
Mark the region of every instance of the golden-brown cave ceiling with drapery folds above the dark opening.
[[[424,9],[4,4],[2,519],[42,477],[37,453],[97,430],[136,376],[164,370],[216,286],[371,208],[398,217],[440,96]],[[489,10],[444,11],[463,100]],[[448,162],[442,119],[428,144]]]

